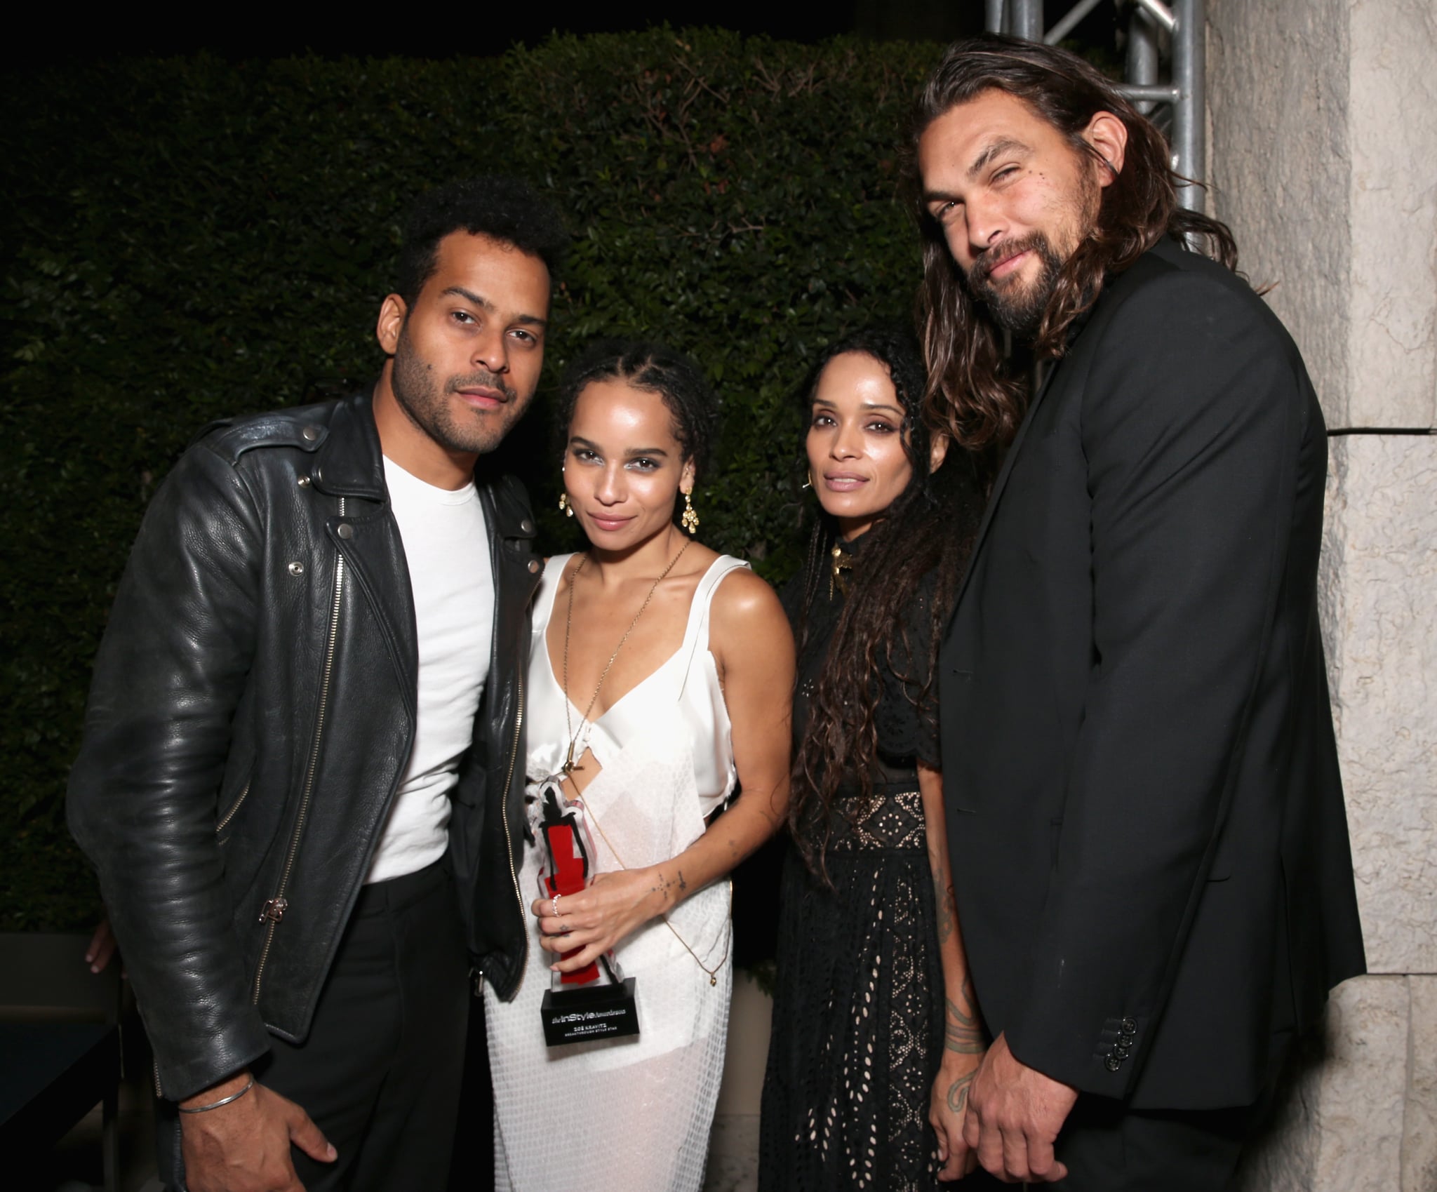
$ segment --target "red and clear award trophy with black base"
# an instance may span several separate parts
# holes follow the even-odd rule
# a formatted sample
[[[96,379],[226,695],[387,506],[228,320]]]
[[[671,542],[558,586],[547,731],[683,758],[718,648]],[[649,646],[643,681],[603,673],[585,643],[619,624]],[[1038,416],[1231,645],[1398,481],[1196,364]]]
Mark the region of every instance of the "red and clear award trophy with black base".
[[[583,806],[563,797],[559,784],[540,790],[539,836],[543,842],[540,896],[578,893],[589,885],[592,842]],[[573,955],[563,952],[558,959]],[[638,1034],[634,978],[624,979],[612,952],[573,972],[552,972],[539,1008],[549,1047]]]

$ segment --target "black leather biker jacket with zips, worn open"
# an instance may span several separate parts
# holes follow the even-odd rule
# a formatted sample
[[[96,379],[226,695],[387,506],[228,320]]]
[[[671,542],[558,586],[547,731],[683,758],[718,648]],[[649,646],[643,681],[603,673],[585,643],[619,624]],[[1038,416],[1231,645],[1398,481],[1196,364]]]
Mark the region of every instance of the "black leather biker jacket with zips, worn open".
[[[523,487],[477,477],[494,636],[450,860],[474,965],[525,962]],[[369,396],[208,428],[157,493],[95,663],[69,821],[191,1096],[302,1040],[414,738],[414,602]]]

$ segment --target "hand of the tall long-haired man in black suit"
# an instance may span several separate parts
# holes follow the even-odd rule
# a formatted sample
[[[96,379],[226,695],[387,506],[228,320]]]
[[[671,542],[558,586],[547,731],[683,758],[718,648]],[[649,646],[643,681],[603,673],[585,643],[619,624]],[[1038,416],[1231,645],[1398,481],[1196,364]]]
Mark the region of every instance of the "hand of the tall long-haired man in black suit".
[[[1027,1067],[999,1035],[969,1093],[963,1139],[999,1179],[1050,1183],[1068,1175],[1053,1142],[1076,1100],[1076,1089]]]

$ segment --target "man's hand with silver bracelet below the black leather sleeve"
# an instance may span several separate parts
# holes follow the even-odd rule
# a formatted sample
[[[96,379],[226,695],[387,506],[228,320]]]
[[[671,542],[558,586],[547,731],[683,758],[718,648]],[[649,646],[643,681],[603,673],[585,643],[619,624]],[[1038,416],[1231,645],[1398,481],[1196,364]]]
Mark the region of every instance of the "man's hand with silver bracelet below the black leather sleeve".
[[[211,1104],[240,1091],[249,1079],[249,1073],[233,1076],[181,1106]],[[305,1192],[289,1145],[320,1163],[339,1158],[305,1110],[263,1084],[218,1109],[181,1113],[180,1129],[190,1192]]]

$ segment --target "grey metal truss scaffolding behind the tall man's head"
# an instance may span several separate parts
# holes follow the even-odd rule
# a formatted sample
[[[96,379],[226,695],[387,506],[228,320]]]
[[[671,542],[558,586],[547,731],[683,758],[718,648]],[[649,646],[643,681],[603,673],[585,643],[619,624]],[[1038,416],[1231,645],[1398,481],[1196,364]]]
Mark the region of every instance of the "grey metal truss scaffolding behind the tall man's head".
[[[1068,14],[1043,30],[1043,0],[984,0],[984,27],[1032,42],[1056,45],[1099,0],[1078,0]],[[1140,112],[1152,119],[1173,146],[1173,168],[1191,182],[1207,172],[1204,121],[1207,98],[1203,56],[1207,14],[1204,0],[1117,0],[1127,20],[1127,63],[1118,88]],[[1164,82],[1164,78],[1167,79]],[[1184,207],[1201,210],[1203,191],[1178,187]]]

